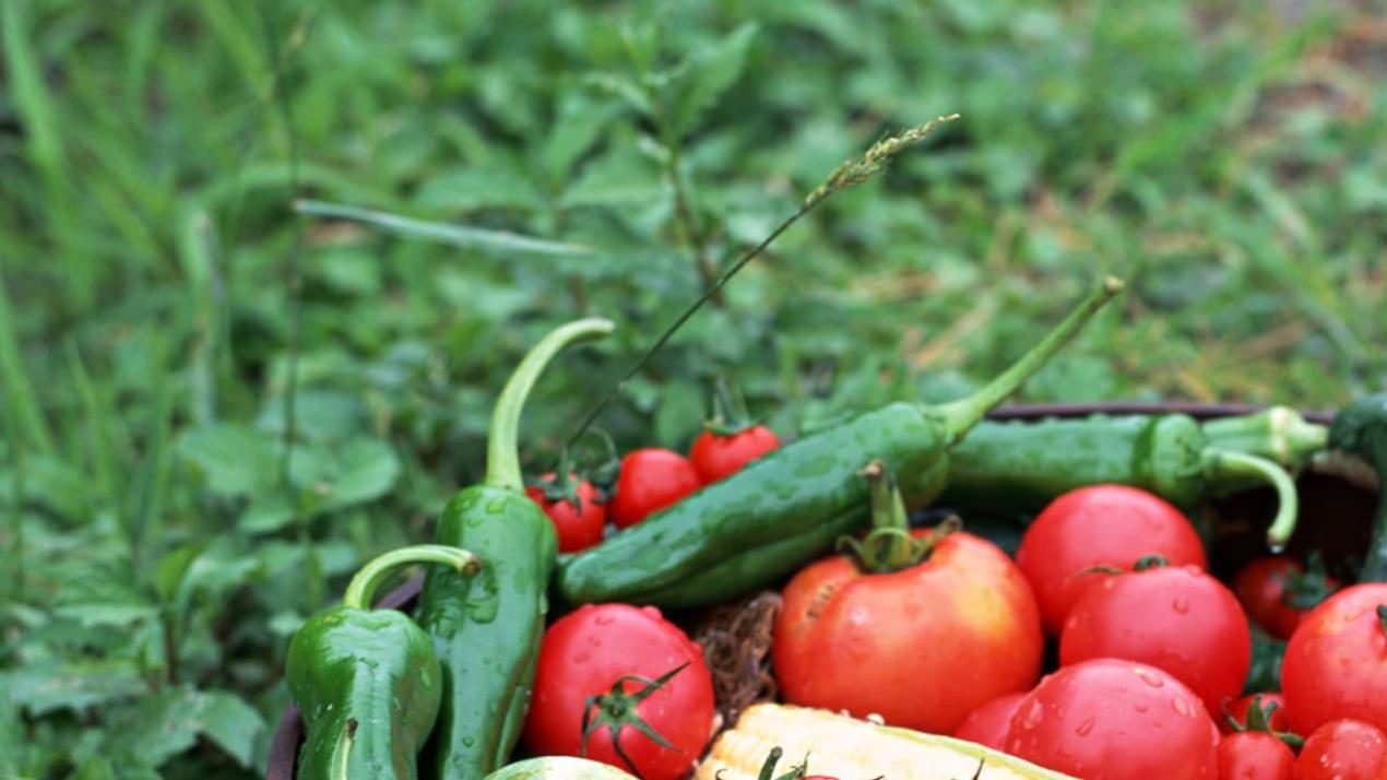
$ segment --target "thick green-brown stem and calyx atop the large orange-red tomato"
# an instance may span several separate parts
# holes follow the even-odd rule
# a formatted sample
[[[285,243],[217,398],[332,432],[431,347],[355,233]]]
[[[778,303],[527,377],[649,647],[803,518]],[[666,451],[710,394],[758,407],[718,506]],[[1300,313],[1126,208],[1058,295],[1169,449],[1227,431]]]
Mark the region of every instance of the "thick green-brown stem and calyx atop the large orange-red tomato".
[[[910,533],[906,502],[900,497],[896,477],[881,461],[872,461],[857,472],[867,479],[871,495],[871,530],[861,540],[845,536],[839,550],[847,550],[864,572],[888,573],[908,569],[929,557],[939,540],[958,530],[958,518],[949,518],[935,527],[935,533],[915,539]]]

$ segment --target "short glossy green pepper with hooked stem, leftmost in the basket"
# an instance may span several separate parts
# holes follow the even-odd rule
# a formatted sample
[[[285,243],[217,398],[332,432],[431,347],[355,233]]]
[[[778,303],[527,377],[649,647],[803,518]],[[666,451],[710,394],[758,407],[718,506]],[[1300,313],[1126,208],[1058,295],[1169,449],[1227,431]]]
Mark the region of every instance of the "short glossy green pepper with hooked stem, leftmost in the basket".
[[[307,733],[298,780],[413,780],[433,729],[442,676],[429,634],[395,609],[372,609],[380,583],[401,566],[441,563],[477,573],[466,550],[422,544],[366,563],[340,607],[309,618],[288,645],[286,676]]]

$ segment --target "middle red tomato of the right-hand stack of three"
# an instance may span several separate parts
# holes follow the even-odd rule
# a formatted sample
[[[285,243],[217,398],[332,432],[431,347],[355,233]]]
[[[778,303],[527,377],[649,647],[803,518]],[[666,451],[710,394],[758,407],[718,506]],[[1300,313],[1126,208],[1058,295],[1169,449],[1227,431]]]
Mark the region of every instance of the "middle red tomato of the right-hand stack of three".
[[[1090,587],[1060,634],[1060,665],[1140,661],[1168,672],[1209,713],[1243,690],[1252,634],[1233,591],[1197,566],[1161,566]]]

